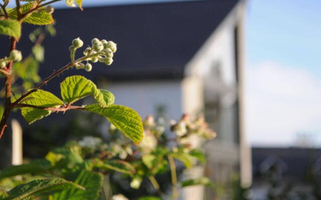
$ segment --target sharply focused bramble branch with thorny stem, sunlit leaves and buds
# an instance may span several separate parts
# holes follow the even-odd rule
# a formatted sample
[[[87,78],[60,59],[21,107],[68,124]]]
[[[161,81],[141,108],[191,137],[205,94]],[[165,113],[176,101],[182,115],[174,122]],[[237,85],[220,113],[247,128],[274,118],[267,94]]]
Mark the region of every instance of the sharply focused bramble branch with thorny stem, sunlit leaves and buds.
[[[0,33],[11,36],[12,41],[10,55],[0,59],[0,72],[6,78],[4,111],[0,122],[0,138],[6,128],[9,114],[14,109],[20,108],[22,115],[28,123],[33,123],[36,120],[48,116],[53,111],[65,112],[71,109],[78,109],[105,116],[127,137],[135,143],[139,143],[142,138],[142,123],[139,115],[128,107],[114,105],[114,95],[110,91],[97,88],[91,80],[79,75],[67,77],[60,84],[62,99],[49,91],[40,89],[41,86],[47,84],[52,78],[69,68],[91,71],[92,64],[90,62],[95,63],[98,61],[110,65],[113,62],[113,53],[117,50],[117,46],[113,41],[94,38],[91,41],[91,46],[85,48],[83,51],[84,56],[76,59],[75,53],[84,43],[79,37],[74,39],[72,45],[69,47],[70,63],[54,71],[36,86],[26,88],[27,91],[17,99],[12,98],[12,77],[15,73],[19,74],[19,71],[16,72],[13,65],[14,62],[18,63],[22,60],[21,51],[16,49],[16,44],[21,36],[21,24],[23,22],[38,25],[51,24],[53,22],[53,7],[49,4],[58,0],[45,1],[46,0],[27,0],[27,3],[20,4],[20,0],[16,0],[16,8],[6,7],[9,0],[4,0],[4,3],[1,4],[2,11],[0,14],[2,18],[0,20]],[[66,0],[69,6],[75,6],[75,2],[81,8],[82,0]],[[39,51],[41,50],[39,44],[33,48],[35,58],[37,59],[38,56],[38,60],[41,60],[41,58],[39,59]],[[83,106],[73,105],[74,102],[89,95],[95,98],[96,104]]]

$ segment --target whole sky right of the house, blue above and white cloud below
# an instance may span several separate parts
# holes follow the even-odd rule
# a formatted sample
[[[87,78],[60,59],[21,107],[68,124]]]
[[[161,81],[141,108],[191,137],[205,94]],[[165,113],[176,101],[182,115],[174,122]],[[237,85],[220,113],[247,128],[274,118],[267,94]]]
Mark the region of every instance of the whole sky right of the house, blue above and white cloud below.
[[[249,0],[245,117],[254,145],[321,146],[321,1]]]

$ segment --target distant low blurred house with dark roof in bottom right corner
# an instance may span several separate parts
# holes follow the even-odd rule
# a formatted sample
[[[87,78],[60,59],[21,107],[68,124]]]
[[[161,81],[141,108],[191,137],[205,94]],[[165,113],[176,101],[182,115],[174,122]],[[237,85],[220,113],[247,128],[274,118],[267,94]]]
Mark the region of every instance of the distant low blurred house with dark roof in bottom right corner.
[[[253,147],[252,168],[252,199],[268,199],[268,194],[321,197],[320,148]]]

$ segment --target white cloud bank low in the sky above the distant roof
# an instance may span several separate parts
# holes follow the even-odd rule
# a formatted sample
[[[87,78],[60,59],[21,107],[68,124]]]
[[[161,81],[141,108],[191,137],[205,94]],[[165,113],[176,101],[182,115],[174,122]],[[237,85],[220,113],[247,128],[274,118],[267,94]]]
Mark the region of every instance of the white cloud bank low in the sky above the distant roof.
[[[302,131],[319,139],[321,81],[316,75],[273,62],[247,67],[245,75],[245,128],[252,144],[289,145]]]

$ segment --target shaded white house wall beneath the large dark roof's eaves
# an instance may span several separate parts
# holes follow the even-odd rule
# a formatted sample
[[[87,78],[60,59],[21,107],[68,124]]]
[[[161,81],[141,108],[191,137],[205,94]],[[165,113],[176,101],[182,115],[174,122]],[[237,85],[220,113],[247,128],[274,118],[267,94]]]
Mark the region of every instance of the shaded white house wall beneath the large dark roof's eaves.
[[[156,107],[166,106],[170,119],[183,113],[181,80],[111,82],[101,86],[115,95],[115,103],[135,109],[142,118],[156,114]]]

